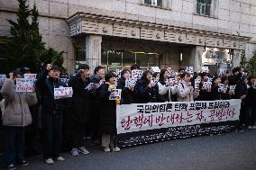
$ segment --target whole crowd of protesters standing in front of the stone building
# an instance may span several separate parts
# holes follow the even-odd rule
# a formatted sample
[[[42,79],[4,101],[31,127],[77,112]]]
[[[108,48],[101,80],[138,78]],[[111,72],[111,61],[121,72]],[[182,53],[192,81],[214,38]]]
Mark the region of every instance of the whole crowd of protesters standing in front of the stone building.
[[[36,137],[49,165],[65,160],[60,155],[63,144],[74,157],[89,154],[85,146],[88,138],[96,145],[101,144],[105,152],[120,151],[116,140],[116,104],[242,99],[241,126],[256,129],[256,77],[247,76],[240,67],[233,68],[232,74],[226,71],[214,76],[208,72],[191,74],[182,68],[177,73],[169,68],[160,72],[149,69],[134,86],[127,87],[125,81],[131,78],[133,70],[140,67],[133,65],[130,70],[105,74],[104,67],[98,66],[90,75],[90,67],[81,65],[68,82],[63,82],[59,67],[48,64],[29,93],[15,92],[15,79],[30,73],[30,69],[23,67],[10,73],[0,96],[8,169],[15,169],[16,163],[29,165],[24,148],[33,149]],[[210,87],[205,82],[211,82]],[[95,86],[87,89],[92,83]],[[54,88],[68,86],[73,89],[72,98],[54,98]],[[114,89],[122,89],[120,100],[109,100]]]

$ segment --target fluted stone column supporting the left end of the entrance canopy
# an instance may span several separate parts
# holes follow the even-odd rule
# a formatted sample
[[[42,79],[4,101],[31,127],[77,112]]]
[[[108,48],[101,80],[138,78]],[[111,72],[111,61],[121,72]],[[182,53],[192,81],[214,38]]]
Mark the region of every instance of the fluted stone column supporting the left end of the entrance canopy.
[[[101,35],[86,36],[86,61],[91,70],[101,65]]]

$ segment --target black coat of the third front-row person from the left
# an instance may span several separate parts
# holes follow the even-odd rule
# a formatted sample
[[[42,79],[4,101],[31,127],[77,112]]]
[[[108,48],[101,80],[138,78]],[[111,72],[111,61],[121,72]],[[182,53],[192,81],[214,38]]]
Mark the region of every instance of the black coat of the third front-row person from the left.
[[[85,88],[90,84],[83,82],[80,76],[74,76],[69,86],[73,88],[73,97],[69,106],[69,118],[78,124],[85,124],[90,121],[91,100],[90,92]]]

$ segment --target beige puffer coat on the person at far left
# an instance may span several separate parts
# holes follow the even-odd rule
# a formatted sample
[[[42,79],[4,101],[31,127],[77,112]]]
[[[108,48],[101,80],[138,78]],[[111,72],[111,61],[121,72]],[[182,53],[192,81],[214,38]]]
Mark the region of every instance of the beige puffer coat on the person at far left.
[[[16,93],[14,80],[6,79],[1,89],[5,98],[3,124],[5,126],[25,127],[32,123],[29,106],[37,103],[35,93]]]

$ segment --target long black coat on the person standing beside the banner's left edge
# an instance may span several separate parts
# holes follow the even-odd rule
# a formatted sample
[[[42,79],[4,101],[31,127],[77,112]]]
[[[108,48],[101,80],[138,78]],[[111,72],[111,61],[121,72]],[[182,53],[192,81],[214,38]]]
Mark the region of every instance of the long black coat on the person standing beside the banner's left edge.
[[[101,86],[99,90],[100,115],[99,131],[101,134],[116,134],[116,103],[109,100],[110,92],[108,84]]]

